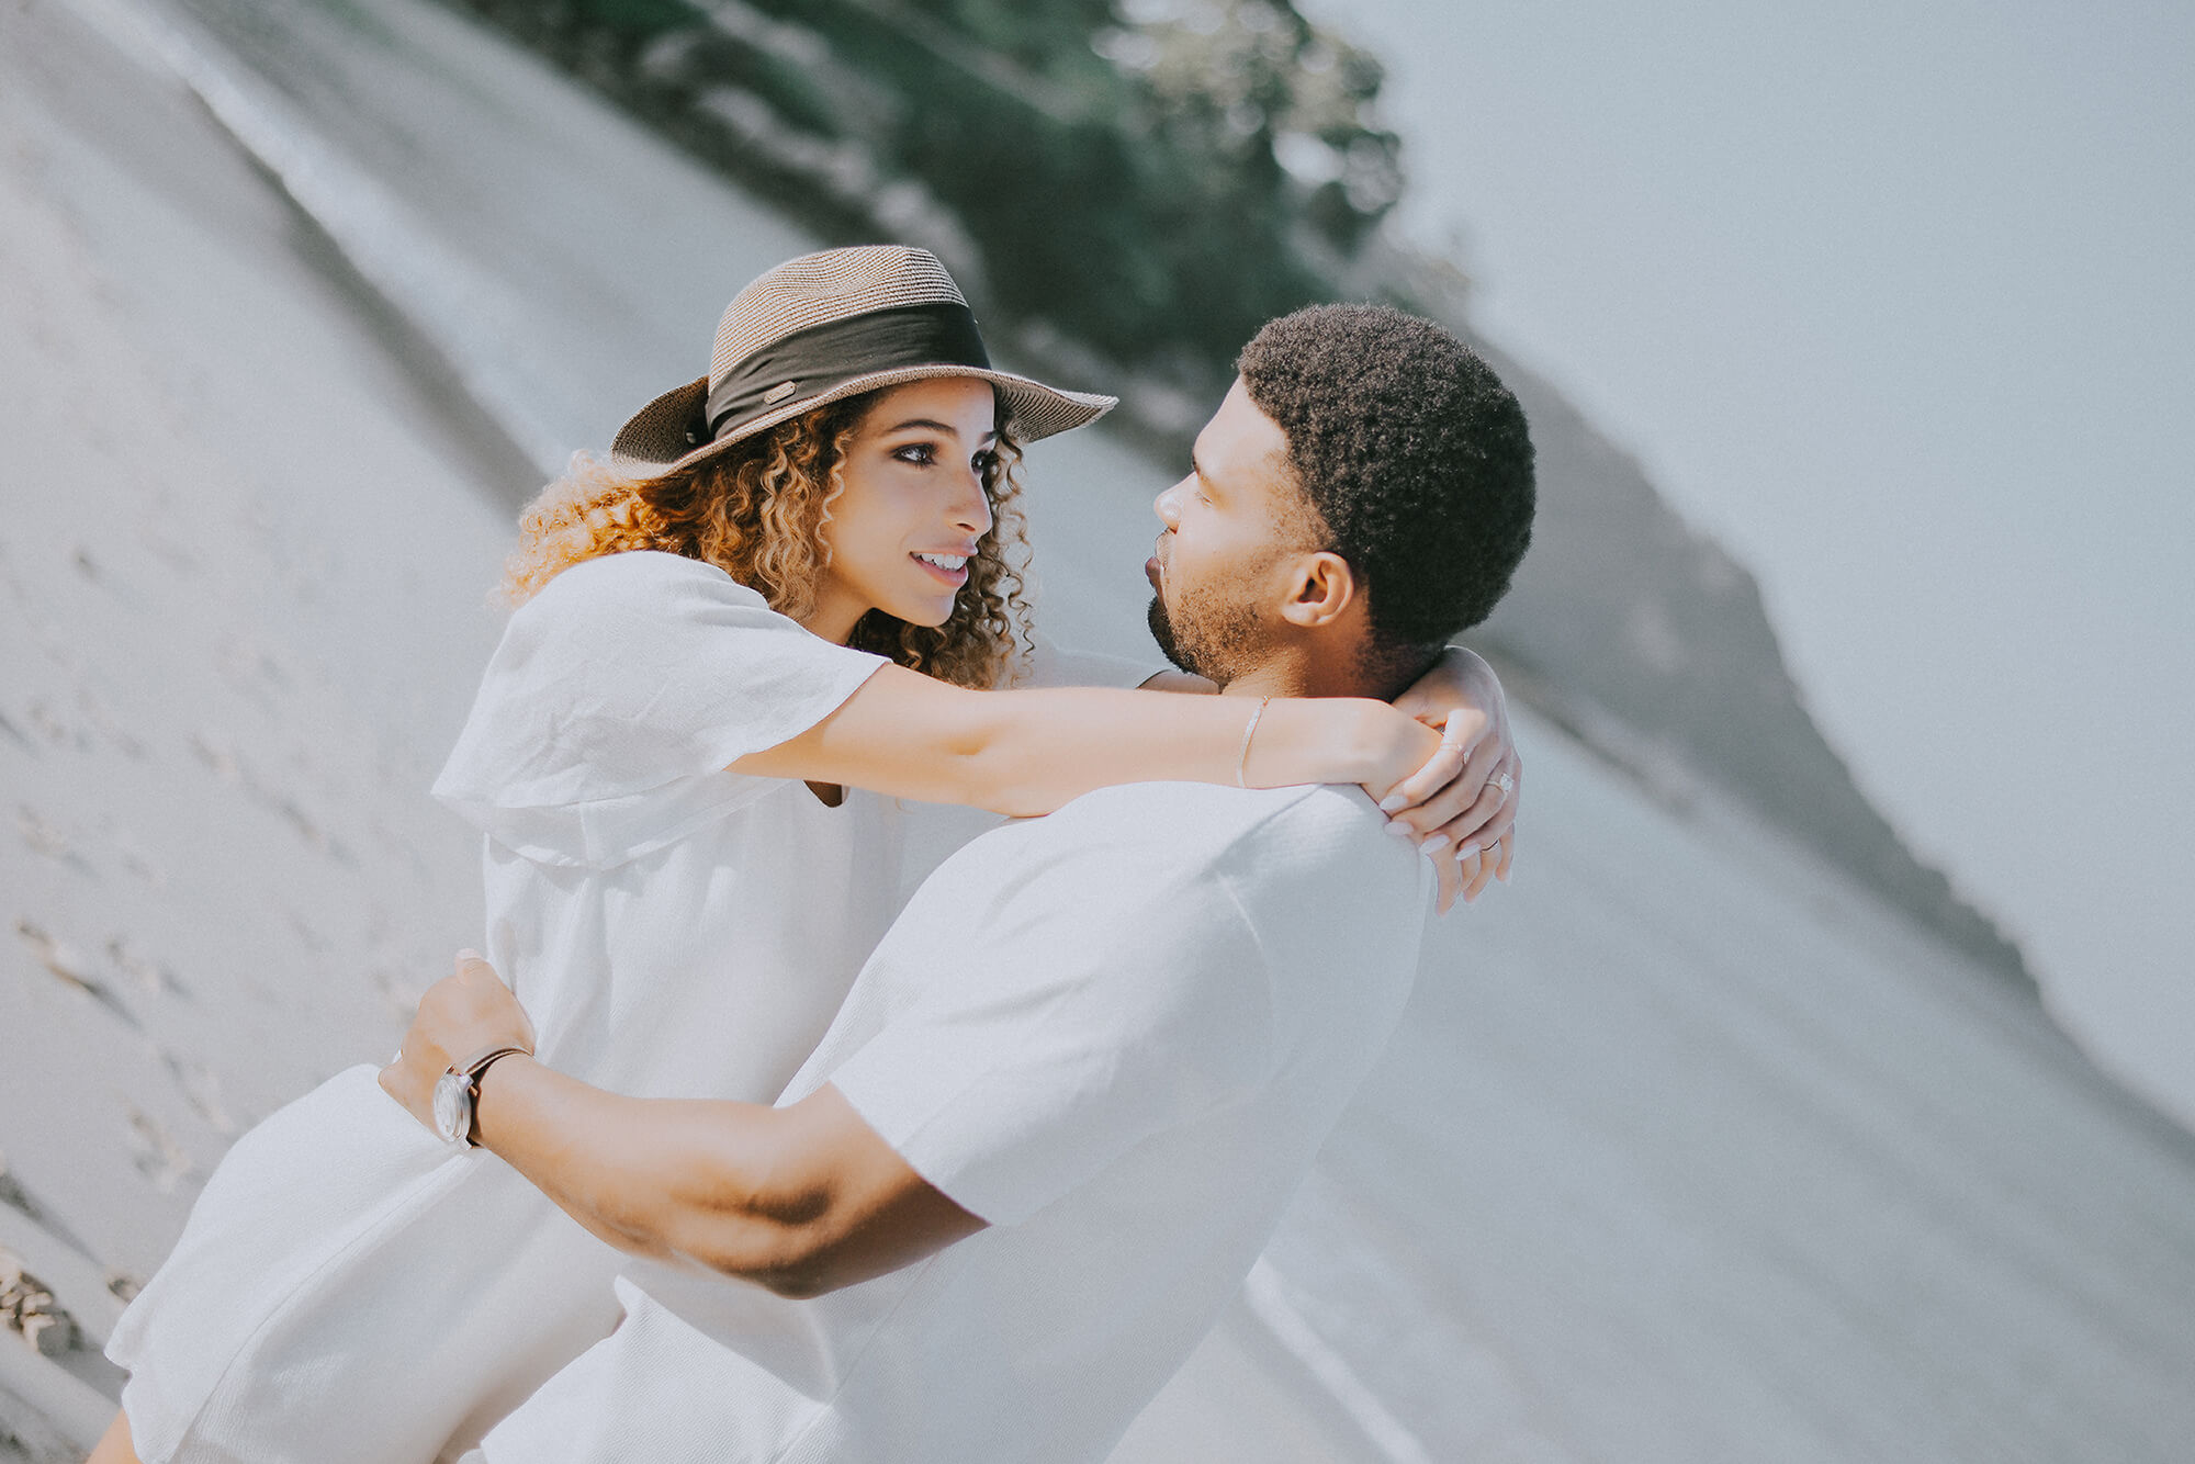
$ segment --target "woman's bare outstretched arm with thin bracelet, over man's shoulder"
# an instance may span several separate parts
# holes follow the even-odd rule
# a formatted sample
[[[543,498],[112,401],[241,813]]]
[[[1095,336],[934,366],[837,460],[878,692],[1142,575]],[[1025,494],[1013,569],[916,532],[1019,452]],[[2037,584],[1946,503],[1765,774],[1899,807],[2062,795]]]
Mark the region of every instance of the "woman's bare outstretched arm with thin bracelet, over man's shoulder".
[[[1256,707],[1098,687],[968,691],[885,665],[801,735],[731,766],[1047,814],[1113,784],[1234,784],[1238,773],[1249,788],[1363,784],[1385,799],[1440,748],[1422,722],[1354,696],[1273,698],[1245,744]]]

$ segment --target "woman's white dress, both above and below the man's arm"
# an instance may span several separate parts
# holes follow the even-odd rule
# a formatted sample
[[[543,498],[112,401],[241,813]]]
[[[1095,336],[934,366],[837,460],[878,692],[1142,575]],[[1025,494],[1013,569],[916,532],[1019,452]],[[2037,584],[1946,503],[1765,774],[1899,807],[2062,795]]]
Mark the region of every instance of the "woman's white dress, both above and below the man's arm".
[[[665,553],[577,564],[511,617],[435,792],[485,832],[485,950],[542,1060],[641,1095],[784,1089],[898,909],[898,806],[724,768],[878,665]],[[108,1356],[147,1464],[454,1457],[610,1330],[619,1262],[362,1065],[237,1141]]]

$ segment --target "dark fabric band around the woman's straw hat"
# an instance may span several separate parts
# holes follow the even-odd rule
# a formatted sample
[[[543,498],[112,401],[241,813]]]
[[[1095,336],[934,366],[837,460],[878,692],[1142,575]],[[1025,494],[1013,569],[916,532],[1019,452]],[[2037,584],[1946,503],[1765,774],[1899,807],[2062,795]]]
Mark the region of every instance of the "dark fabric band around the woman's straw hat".
[[[975,312],[953,301],[876,309],[825,320],[746,356],[722,382],[709,384],[709,441],[781,408],[817,397],[854,378],[902,367],[990,369]]]

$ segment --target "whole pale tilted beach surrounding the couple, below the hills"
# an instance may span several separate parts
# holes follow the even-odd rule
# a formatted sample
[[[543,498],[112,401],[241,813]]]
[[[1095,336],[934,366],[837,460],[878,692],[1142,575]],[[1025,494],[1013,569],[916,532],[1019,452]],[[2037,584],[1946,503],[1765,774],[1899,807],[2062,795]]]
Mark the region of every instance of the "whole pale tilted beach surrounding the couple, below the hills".
[[[424,788],[507,439],[597,441],[806,244],[415,0],[158,11],[314,224],[147,2],[0,4],[0,1247],[92,1345],[233,1135],[476,937]],[[1032,476],[1051,630],[1135,645],[1170,470],[1078,432]],[[1523,735],[1517,885],[1119,1464],[2184,1460],[2195,1146],[1774,836]],[[0,1335],[0,1460],[114,1383]]]

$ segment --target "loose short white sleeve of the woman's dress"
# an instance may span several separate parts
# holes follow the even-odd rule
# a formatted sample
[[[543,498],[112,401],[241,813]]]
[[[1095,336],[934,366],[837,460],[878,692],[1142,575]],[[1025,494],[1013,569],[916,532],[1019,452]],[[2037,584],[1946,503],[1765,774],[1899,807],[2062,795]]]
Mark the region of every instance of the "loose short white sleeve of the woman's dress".
[[[713,564],[588,560],[511,615],[435,797],[529,858],[617,865],[775,788],[727,768],[878,665]]]

